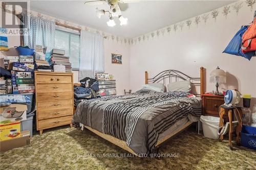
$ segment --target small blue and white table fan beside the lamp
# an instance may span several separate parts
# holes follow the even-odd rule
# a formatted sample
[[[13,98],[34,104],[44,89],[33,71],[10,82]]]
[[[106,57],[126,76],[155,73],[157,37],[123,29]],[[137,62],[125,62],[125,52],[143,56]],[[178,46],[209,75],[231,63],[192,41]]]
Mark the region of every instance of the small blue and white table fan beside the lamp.
[[[227,90],[224,95],[225,105],[232,106],[240,102],[240,93],[236,90]]]

